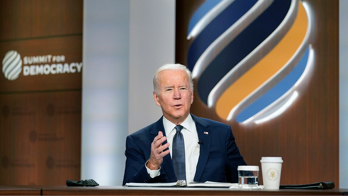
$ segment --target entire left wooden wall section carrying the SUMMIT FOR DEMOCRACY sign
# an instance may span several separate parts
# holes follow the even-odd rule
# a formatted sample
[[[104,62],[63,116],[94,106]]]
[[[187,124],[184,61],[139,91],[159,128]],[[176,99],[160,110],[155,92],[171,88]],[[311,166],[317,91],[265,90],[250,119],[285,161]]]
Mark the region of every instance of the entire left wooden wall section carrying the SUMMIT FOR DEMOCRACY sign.
[[[0,1],[0,58],[15,50],[22,60],[15,80],[0,76],[2,185],[80,180],[82,10],[82,0]],[[24,61],[46,55],[50,61]],[[24,74],[25,67],[58,63],[73,69]]]

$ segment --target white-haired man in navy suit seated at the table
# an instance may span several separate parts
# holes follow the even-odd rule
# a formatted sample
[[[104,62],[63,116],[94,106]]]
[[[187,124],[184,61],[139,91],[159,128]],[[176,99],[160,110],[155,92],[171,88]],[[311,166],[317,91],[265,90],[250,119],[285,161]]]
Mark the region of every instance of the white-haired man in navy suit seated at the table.
[[[153,88],[163,116],[127,136],[123,185],[177,180],[237,183],[237,167],[246,163],[231,127],[190,113],[191,71],[165,64],[156,71]]]

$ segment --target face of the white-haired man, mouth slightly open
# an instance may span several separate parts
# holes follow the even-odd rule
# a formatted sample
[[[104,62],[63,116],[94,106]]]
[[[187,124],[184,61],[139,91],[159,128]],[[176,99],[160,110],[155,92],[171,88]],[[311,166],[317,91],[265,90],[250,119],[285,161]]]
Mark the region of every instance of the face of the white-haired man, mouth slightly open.
[[[190,113],[193,93],[184,70],[165,70],[159,74],[159,95],[153,94],[166,119],[178,124]]]

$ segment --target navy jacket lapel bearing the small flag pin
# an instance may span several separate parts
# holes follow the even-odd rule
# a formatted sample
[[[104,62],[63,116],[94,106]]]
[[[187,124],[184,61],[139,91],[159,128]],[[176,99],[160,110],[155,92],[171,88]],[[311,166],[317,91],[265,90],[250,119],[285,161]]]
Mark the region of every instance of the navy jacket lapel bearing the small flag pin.
[[[208,160],[209,149],[212,143],[212,134],[209,134],[210,129],[208,128],[209,124],[207,122],[199,119],[198,117],[194,115],[192,115],[192,118],[196,123],[198,140],[200,142],[202,142],[203,140],[203,144],[200,144],[200,147],[199,147],[199,158],[198,158],[198,163],[196,167],[196,174],[193,179],[194,181],[199,181]]]

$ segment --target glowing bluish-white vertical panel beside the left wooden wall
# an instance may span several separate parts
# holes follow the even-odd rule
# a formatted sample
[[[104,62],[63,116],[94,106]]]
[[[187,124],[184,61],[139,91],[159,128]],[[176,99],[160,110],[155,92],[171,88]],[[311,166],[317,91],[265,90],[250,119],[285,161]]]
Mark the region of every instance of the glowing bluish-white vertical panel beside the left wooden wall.
[[[128,60],[129,1],[85,0],[81,179],[100,185],[122,184]]]

